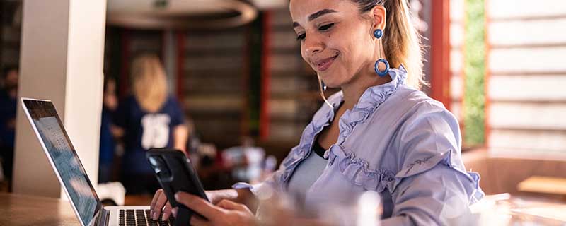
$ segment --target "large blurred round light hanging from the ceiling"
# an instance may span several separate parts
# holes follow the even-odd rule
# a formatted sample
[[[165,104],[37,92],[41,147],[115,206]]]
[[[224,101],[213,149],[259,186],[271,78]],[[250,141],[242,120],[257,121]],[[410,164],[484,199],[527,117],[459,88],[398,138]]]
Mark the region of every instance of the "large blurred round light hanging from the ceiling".
[[[140,29],[219,29],[257,16],[254,6],[238,0],[108,0],[107,21]]]

